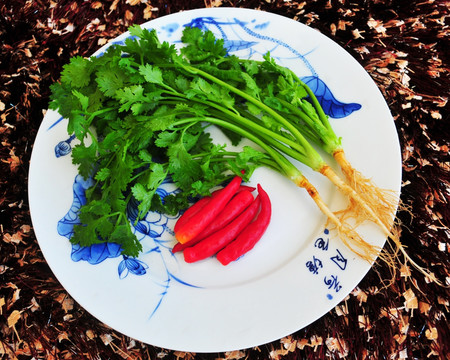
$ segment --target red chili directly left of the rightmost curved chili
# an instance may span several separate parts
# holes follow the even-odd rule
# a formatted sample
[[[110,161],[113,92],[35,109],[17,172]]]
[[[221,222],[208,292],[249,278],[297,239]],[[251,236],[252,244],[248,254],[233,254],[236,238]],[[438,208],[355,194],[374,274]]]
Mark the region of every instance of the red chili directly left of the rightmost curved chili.
[[[188,263],[213,256],[233,241],[253,220],[259,209],[259,196],[237,218],[219,231],[184,250],[184,260]]]

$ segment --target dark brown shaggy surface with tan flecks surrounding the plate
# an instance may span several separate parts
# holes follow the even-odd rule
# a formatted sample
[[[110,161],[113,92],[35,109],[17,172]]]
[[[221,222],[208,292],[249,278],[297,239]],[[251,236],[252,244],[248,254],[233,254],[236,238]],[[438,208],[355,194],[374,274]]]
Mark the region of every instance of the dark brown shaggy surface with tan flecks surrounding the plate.
[[[127,338],[93,318],[55,279],[27,204],[30,154],[49,85],[71,56],[93,53],[132,23],[213,6],[261,9],[308,24],[365,67],[388,102],[401,141],[401,197],[414,215],[399,213],[402,241],[417,262],[450,282],[447,2],[0,0],[0,358],[449,359],[448,289],[414,269],[402,269],[387,289],[370,271],[305,329],[217,354],[174,352]],[[389,276],[382,264],[377,271]]]

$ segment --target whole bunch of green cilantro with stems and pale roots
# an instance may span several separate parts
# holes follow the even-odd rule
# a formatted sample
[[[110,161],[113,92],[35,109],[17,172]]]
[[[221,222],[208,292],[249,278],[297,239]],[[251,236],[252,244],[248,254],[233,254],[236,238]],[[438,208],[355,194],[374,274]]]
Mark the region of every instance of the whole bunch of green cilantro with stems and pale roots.
[[[138,219],[150,210],[174,214],[230,174],[244,170],[246,180],[256,167],[266,166],[306,189],[362,258],[372,261],[379,249],[347,224],[349,217],[376,223],[402,249],[389,229],[392,207],[379,202],[383,193],[374,185],[361,191],[367,179],[355,181],[341,139],[313,92],[291,70],[269,53],[262,61],[227,54],[223,40],[198,28],[183,31],[180,51],[160,42],[154,30],[132,26],[130,34],[124,45],[109,47],[101,57],[73,58],[51,88],[50,107],[69,120],[68,132],[80,141],[73,163],[81,175],[96,180],[86,192],[82,225],[75,227],[72,242],[116,242],[123,254],[137,256],[141,244],[126,215],[131,200],[139,203]],[[228,151],[213,142],[207,131],[212,125],[233,144],[245,138],[252,146]],[[336,158],[348,183],[312,143]],[[292,159],[332,181],[351,199],[349,207],[333,213]],[[155,193],[168,176],[181,191],[162,201]]]

